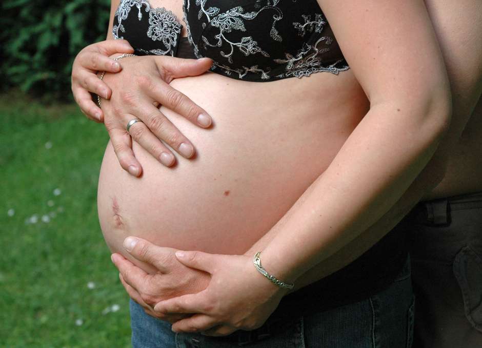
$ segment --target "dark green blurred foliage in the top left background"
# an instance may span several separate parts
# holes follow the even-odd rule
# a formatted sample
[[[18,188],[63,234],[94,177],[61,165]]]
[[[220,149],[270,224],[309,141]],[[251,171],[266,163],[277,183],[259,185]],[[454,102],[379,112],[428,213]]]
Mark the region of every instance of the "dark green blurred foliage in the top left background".
[[[3,0],[0,89],[18,87],[49,100],[71,98],[75,55],[105,40],[109,0]]]

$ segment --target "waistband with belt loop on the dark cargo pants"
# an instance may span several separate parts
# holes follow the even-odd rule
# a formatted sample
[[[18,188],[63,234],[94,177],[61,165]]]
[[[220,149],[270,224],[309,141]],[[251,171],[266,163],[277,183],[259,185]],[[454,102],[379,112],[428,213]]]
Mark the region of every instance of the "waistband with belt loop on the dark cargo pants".
[[[416,222],[428,226],[447,226],[452,212],[482,208],[482,192],[421,201],[410,212]]]

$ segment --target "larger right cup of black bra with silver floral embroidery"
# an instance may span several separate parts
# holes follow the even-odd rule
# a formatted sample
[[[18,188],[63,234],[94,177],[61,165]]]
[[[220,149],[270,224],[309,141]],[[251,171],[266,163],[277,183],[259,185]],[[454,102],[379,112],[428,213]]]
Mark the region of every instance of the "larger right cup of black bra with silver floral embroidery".
[[[312,12],[307,14],[305,6],[290,0],[257,0],[255,6],[251,2],[225,8],[215,0],[185,0],[184,20],[190,24],[186,28],[196,56],[210,57],[212,71],[236,79],[273,81],[349,69],[331,29],[325,30],[329,25],[316,1],[304,5],[311,5],[306,7]],[[292,30],[285,25],[280,32],[277,25],[282,21],[291,21]],[[200,35],[193,33],[194,22]]]

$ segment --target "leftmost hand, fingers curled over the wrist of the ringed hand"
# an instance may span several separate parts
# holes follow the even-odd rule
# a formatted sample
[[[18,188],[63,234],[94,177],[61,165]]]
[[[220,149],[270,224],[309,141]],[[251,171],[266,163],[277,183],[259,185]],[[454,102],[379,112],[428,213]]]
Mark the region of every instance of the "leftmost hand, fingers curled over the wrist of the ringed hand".
[[[77,54],[72,65],[72,93],[87,118],[95,122],[104,121],[104,113],[92,101],[89,92],[105,99],[109,99],[112,94],[111,89],[97,78],[97,71],[121,71],[121,64],[109,56],[132,52],[134,49],[126,40],[106,40],[89,45]]]

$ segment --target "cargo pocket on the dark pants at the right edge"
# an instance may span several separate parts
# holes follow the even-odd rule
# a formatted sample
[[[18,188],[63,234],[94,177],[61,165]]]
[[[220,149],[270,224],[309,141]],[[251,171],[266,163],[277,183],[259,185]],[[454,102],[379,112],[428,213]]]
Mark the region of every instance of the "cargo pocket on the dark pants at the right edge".
[[[467,320],[482,332],[482,259],[466,246],[455,257],[453,272],[462,292]]]

